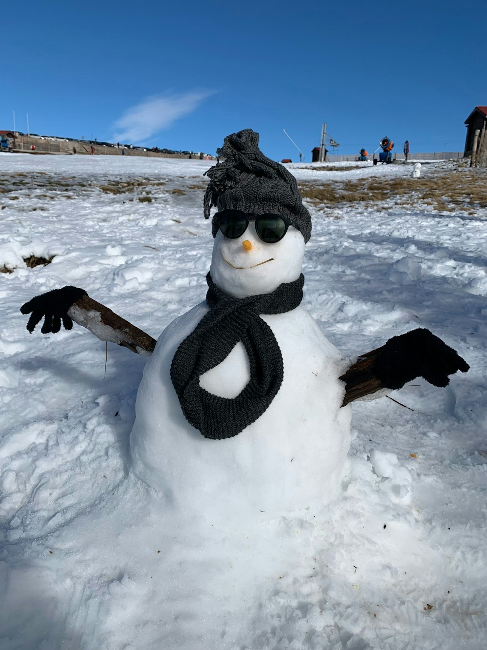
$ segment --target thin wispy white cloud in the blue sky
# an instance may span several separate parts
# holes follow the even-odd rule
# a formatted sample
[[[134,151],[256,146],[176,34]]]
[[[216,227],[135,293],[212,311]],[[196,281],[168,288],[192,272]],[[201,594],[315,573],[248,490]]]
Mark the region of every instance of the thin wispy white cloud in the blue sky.
[[[167,129],[176,120],[193,112],[214,90],[194,90],[182,94],[149,97],[125,110],[113,125],[116,142],[138,144]]]

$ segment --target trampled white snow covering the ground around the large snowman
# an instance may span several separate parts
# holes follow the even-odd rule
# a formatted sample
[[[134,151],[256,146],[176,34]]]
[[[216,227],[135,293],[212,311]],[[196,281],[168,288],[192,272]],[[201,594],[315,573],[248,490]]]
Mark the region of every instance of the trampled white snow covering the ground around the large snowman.
[[[447,389],[416,380],[392,394],[408,408],[353,404],[340,498],[263,519],[224,552],[192,536],[191,521],[171,528],[130,471],[145,359],[108,344],[106,361],[105,344],[77,326],[25,329],[20,305],[66,284],[154,337],[201,302],[213,244],[206,168],[0,156],[0,268],[12,269],[0,273],[1,650],[481,649],[486,209],[394,196],[332,216],[310,205],[303,305],[343,356],[420,326],[471,369]],[[322,185],[412,167],[290,169]],[[438,162],[422,175],[448,170]],[[54,257],[27,268],[30,255]]]

